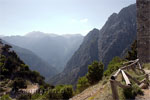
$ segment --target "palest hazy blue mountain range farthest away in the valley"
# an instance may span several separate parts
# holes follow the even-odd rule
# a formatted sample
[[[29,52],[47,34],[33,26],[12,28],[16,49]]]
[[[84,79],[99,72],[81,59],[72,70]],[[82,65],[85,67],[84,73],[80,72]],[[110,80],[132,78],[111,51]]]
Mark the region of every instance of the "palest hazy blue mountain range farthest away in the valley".
[[[61,72],[67,61],[82,43],[83,36],[56,35],[33,31],[25,36],[2,37],[5,41],[16,46],[31,50],[45,62]]]

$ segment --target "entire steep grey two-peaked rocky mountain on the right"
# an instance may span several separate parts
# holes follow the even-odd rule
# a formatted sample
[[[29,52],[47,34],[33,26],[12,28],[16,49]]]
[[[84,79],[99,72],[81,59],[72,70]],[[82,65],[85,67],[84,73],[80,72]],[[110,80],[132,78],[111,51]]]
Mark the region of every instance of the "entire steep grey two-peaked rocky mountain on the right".
[[[64,71],[49,80],[52,84],[75,84],[87,73],[94,60],[102,61],[105,69],[115,56],[123,56],[136,38],[136,5],[112,14],[101,30],[93,29],[68,61]]]

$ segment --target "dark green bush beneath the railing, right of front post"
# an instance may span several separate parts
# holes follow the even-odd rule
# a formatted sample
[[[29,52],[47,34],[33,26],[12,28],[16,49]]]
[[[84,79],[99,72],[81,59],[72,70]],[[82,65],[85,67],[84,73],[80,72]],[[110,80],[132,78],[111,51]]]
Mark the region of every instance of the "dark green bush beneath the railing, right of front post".
[[[130,88],[123,89],[123,94],[126,99],[135,99],[135,96],[137,94],[142,95],[143,92],[141,88],[139,88],[137,85],[132,85]]]

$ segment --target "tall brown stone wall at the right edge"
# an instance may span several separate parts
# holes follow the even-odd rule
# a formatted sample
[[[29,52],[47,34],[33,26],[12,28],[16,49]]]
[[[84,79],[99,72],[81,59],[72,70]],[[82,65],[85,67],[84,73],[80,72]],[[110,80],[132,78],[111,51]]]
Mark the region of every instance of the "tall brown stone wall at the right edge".
[[[137,0],[138,58],[150,62],[150,0]]]

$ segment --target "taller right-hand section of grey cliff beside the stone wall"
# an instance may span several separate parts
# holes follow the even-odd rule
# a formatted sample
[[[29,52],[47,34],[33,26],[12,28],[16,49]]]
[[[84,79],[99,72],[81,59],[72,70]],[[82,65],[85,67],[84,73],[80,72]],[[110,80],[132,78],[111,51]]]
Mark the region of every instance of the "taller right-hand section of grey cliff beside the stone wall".
[[[107,65],[114,56],[121,56],[135,39],[136,6],[131,5],[123,8],[119,14],[112,14],[100,30],[99,60]]]

